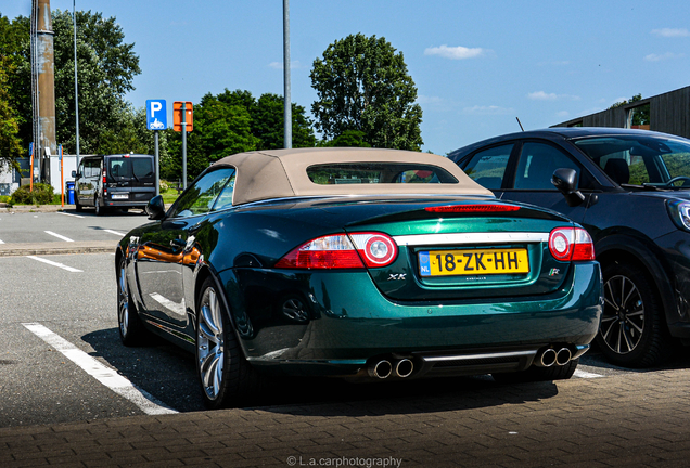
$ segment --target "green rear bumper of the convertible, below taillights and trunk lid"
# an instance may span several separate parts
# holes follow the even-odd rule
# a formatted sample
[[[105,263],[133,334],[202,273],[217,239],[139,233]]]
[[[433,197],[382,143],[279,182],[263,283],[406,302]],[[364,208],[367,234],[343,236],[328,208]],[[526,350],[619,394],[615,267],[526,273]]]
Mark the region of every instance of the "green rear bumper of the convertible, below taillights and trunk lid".
[[[597,262],[574,265],[567,286],[553,294],[500,301],[393,302],[366,272],[237,269],[221,280],[247,360],[293,375],[352,375],[382,355],[512,353],[548,346],[576,352],[593,339],[602,311]],[[295,301],[302,314],[294,313]],[[494,372],[489,364],[472,361],[472,374]]]

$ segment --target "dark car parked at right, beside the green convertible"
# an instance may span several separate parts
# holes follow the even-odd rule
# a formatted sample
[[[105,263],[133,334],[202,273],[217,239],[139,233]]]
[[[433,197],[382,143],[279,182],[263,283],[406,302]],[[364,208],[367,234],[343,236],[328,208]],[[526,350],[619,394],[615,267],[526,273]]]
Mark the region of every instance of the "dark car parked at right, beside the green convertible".
[[[690,339],[690,140],[552,128],[485,140],[449,158],[499,198],[553,209],[587,229],[604,276],[597,341],[611,362],[655,365],[674,341]]]

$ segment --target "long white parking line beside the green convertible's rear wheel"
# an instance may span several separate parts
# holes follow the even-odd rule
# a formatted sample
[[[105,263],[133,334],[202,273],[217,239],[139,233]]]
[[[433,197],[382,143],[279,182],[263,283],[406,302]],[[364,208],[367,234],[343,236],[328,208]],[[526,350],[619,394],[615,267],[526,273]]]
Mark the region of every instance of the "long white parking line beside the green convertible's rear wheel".
[[[115,369],[112,369],[98,360],[91,358],[69,341],[62,338],[60,335],[55,335],[50,329],[38,323],[24,323],[24,325],[34,335],[46,341],[51,347],[63,353],[65,358],[81,367],[87,374],[95,378],[105,387],[126,398],[141,411],[148,415],[163,415],[175,414],[175,410],[165,406],[165,404],[156,400],[149,392],[137,388],[127,378],[117,374]]]

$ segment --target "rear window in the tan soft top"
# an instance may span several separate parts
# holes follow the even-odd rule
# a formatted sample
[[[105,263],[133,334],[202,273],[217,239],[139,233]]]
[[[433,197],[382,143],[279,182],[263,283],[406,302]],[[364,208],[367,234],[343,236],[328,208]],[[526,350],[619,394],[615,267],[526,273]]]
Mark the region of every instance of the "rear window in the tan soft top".
[[[447,183],[458,179],[437,166],[399,162],[338,162],[307,168],[311,182],[330,184]]]

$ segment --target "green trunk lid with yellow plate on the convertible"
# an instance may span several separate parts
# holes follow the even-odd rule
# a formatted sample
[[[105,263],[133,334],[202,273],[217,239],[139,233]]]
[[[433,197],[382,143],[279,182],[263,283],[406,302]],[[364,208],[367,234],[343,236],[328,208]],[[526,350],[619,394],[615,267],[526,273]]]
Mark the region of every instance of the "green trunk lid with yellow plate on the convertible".
[[[551,256],[549,233],[573,226],[571,221],[527,206],[508,212],[438,213],[425,208],[346,226],[348,233],[385,233],[397,244],[398,256],[391,265],[369,269],[385,296],[406,301],[495,301],[546,295],[563,286],[571,263]]]

